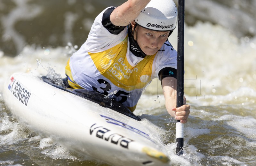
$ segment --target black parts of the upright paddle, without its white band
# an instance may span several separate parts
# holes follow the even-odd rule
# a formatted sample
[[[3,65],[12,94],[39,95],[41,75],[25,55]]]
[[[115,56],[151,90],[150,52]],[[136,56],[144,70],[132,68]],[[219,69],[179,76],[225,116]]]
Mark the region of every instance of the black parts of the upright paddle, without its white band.
[[[178,2],[177,107],[184,104],[184,15],[185,0]],[[180,120],[177,120],[180,122]],[[183,148],[183,138],[176,138],[176,153]]]

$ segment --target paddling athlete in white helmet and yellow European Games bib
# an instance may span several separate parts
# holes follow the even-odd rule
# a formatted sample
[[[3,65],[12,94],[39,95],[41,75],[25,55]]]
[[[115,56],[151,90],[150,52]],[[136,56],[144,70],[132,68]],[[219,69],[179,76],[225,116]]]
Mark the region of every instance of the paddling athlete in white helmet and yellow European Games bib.
[[[134,111],[143,90],[159,78],[168,113],[186,123],[190,106],[176,108],[177,51],[168,41],[177,15],[172,0],[128,0],[106,8],[67,62],[69,86],[105,94]]]

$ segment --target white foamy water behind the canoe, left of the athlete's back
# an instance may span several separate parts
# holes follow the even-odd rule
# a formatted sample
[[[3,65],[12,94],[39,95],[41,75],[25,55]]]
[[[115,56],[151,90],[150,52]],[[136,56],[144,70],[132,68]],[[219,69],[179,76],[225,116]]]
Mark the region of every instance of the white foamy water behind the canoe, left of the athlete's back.
[[[36,48],[26,46],[16,57],[0,57],[0,85],[4,84],[14,72],[33,73],[34,75],[46,75],[49,68],[62,78],[65,76],[65,66],[70,55],[76,51],[76,46],[68,43],[66,47]],[[0,91],[3,87],[0,86]]]

